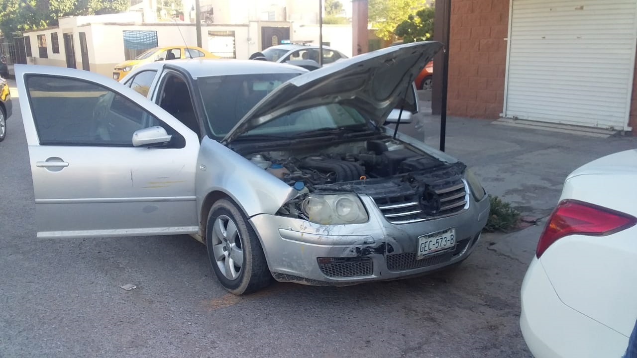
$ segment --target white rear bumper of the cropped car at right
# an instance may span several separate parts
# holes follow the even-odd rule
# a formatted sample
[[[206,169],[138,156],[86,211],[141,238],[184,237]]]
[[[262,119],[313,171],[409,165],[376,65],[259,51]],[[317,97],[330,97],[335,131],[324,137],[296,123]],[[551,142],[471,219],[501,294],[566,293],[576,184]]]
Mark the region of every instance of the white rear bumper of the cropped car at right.
[[[621,357],[626,351],[626,336],[562,303],[541,260],[531,262],[520,297],[520,329],[535,357]]]

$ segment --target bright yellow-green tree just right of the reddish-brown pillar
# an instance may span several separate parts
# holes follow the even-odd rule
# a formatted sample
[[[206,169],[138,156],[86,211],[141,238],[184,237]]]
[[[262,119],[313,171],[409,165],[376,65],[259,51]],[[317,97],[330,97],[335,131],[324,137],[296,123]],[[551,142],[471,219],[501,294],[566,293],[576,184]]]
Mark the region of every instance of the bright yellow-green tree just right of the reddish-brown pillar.
[[[369,0],[369,23],[379,38],[393,39],[396,26],[425,6],[424,0]]]

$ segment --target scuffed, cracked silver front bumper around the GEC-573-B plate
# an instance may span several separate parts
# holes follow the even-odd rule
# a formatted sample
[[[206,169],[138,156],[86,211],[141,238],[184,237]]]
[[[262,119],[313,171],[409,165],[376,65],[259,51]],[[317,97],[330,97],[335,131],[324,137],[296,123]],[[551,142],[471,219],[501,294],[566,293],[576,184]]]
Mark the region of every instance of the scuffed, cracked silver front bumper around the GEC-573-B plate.
[[[256,215],[259,236],[276,280],[309,285],[351,285],[417,276],[460,262],[473,251],[489,217],[489,199],[473,201],[452,217],[390,224],[371,197],[362,196],[369,222],[320,225],[276,215]],[[418,237],[455,228],[450,250],[416,259]]]

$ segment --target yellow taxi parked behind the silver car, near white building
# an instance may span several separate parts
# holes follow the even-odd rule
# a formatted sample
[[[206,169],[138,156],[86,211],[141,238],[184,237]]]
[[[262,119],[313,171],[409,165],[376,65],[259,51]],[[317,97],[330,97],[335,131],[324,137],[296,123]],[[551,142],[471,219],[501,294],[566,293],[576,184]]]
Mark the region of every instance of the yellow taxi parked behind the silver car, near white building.
[[[213,55],[210,52],[204,50],[201,47],[194,46],[169,46],[169,47],[155,47],[151,48],[147,52],[135,57],[132,60],[122,62],[115,66],[113,69],[113,80],[121,80],[132,69],[140,66],[141,64],[147,64],[155,61],[168,61],[175,59],[195,59],[197,57],[203,57],[206,59],[218,59],[217,55]]]

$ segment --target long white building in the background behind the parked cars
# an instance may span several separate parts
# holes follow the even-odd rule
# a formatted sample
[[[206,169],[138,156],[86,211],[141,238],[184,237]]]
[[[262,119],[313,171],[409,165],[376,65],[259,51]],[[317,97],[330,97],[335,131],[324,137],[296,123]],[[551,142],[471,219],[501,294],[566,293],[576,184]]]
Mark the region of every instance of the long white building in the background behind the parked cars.
[[[144,22],[149,16],[152,14],[142,10],[63,17],[59,18],[58,26],[25,31],[27,63],[80,68],[110,77],[116,64],[132,59],[148,48],[184,42],[188,46],[197,45],[195,24]],[[248,59],[254,52],[285,39],[318,44],[318,25],[300,22],[250,20],[220,24],[215,21],[204,24],[201,33],[204,49],[236,59]],[[323,41],[345,55],[352,55],[351,25],[324,25]]]

